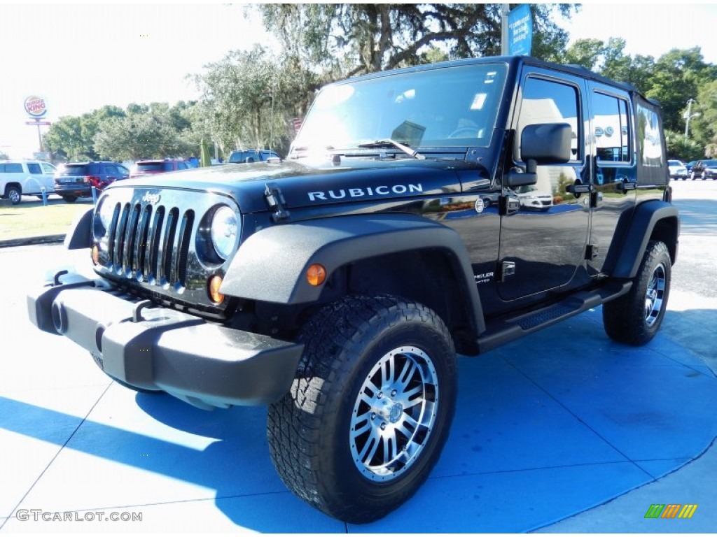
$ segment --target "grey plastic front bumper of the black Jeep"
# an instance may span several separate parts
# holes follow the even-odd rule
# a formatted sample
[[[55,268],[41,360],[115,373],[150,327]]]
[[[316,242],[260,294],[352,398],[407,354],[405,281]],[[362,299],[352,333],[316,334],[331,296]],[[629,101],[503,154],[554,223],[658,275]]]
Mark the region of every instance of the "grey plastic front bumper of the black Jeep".
[[[110,377],[202,408],[263,405],[293,382],[303,345],[135,301],[103,280],[70,275],[27,296],[30,321],[92,354]]]

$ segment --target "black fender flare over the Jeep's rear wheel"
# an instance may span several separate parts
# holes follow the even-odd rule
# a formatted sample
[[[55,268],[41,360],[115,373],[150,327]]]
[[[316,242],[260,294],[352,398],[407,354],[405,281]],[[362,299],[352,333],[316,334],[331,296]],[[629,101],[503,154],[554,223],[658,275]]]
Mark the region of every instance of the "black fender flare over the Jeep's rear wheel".
[[[607,271],[608,274],[611,274],[614,278],[635,278],[637,269],[640,268],[642,254],[647,249],[647,243],[661,221],[670,222],[669,236],[660,238],[668,246],[670,257],[674,263],[677,258],[678,238],[680,236],[679,211],[671,203],[652,200],[637,205],[630,223],[618,226],[616,235],[620,233],[625,238],[622,241],[622,248],[619,252],[610,251],[608,253],[606,265],[612,267]],[[625,229],[626,226],[627,229]]]

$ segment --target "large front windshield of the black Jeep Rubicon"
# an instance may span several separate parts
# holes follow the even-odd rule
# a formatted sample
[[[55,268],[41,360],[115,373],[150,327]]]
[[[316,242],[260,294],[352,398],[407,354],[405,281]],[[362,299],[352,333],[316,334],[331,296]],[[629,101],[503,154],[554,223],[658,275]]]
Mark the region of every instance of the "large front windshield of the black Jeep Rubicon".
[[[293,147],[348,149],[379,140],[487,147],[506,70],[464,65],[333,84],[316,97]]]

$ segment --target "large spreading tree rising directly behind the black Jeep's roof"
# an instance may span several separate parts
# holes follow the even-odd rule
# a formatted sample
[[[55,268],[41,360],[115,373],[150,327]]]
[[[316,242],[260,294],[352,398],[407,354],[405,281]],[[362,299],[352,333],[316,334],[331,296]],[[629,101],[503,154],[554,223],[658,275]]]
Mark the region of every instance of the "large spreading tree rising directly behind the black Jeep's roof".
[[[517,6],[518,4],[511,4]],[[427,47],[450,57],[500,54],[501,4],[257,4],[267,29],[305,66],[352,76],[423,60]],[[531,4],[533,55],[551,57],[567,42],[551,19],[576,4]],[[338,77],[336,76],[336,77]]]

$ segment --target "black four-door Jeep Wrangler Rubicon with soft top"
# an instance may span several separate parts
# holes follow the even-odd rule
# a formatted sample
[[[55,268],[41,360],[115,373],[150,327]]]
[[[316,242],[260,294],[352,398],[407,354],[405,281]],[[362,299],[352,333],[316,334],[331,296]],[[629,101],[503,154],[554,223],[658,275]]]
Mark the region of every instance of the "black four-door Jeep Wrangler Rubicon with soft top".
[[[364,523],[435,465],[456,353],[600,305],[650,341],[670,193],[633,87],[527,57],[380,72],[324,88],[283,161],[111,185],[66,239],[96,278],[58,273],[29,316],[135,390],[269,405],[286,485]]]

